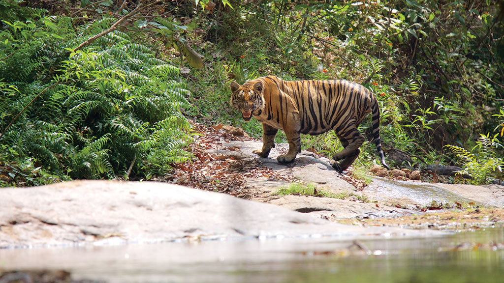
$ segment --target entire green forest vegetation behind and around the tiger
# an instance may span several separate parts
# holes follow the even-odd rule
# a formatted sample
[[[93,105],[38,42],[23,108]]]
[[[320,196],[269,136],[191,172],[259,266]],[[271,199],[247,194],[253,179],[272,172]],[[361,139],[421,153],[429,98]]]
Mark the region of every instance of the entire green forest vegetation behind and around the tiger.
[[[0,20],[2,186],[169,174],[194,158],[188,119],[260,137],[228,86],[266,75],[371,89],[389,164],[502,178],[502,1],[3,0]]]

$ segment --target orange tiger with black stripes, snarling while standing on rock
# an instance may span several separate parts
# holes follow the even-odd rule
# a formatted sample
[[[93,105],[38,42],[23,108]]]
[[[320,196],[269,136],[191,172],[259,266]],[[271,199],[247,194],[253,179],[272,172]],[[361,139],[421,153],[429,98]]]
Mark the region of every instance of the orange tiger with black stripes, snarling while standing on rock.
[[[263,147],[253,153],[267,158],[275,147],[279,129],[289,143],[279,163],[292,162],[301,152],[300,134],[317,135],[330,130],[343,146],[333,155],[332,167],[342,173],[360,154],[365,137],[358,125],[372,113],[372,133],[382,165],[390,169],[380,140],[380,108],[374,95],[364,86],[346,80],[284,81],[267,76],[239,85],[230,83],[231,105],[241,111],[243,120],[252,117],[263,125]]]

